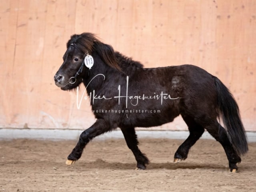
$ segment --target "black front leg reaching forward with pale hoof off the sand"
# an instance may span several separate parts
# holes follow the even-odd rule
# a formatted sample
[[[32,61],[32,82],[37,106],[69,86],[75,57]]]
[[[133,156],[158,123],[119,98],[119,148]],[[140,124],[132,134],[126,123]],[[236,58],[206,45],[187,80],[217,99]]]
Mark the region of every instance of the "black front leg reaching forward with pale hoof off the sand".
[[[84,132],[82,132],[82,134],[80,134],[78,143],[68,156],[66,164],[74,164],[74,162],[76,162],[82,156],[82,152],[90,140],[109,131],[110,129],[111,127],[108,122],[103,119],[98,119],[90,128],[86,129]]]

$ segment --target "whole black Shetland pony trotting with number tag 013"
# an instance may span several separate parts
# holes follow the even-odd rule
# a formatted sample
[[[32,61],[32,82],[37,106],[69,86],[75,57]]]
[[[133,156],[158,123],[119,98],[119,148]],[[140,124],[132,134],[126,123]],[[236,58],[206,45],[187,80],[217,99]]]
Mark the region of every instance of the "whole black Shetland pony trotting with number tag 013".
[[[174,162],[187,158],[206,129],[222,144],[230,171],[238,170],[240,155],[248,151],[246,134],[236,101],[217,77],[192,65],[143,68],[91,33],[71,36],[63,60],[55,84],[72,90],[83,83],[97,119],[82,132],[66,164],[78,160],[92,138],[119,127],[137,168],[145,169],[149,160],[138,148],[134,128],[159,126],[181,115],[190,135]]]

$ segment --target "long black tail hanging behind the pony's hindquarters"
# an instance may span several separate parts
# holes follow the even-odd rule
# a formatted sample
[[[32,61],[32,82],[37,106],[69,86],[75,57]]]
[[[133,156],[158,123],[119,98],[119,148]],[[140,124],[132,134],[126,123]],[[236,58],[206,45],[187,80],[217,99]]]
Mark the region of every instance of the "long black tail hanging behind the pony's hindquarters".
[[[238,105],[228,88],[218,78],[215,78],[215,85],[219,116],[222,117],[228,138],[238,155],[245,154],[248,151],[248,144]]]

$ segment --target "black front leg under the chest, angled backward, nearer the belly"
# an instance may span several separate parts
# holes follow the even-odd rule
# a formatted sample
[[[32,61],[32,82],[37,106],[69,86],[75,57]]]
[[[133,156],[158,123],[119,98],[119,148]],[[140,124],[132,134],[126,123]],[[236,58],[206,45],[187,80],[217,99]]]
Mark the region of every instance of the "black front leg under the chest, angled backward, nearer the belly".
[[[138,169],[146,169],[146,164],[149,163],[148,158],[145,154],[142,154],[140,149],[138,148],[138,139],[137,135],[135,133],[134,127],[120,127],[122,130],[122,133],[124,134],[124,139],[126,141],[126,144],[130,150],[132,150],[132,153],[135,156],[135,159],[137,161],[137,168]]]

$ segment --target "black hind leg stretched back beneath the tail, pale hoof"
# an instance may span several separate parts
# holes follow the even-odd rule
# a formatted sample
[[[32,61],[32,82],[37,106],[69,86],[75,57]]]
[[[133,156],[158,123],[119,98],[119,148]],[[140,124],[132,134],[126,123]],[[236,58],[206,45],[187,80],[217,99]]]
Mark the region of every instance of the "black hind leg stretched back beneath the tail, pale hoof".
[[[236,172],[236,170],[238,170],[236,164],[241,162],[241,158],[238,156],[230,140],[228,139],[226,130],[218,123],[217,120],[215,120],[212,124],[208,124],[205,126],[205,128],[218,142],[220,142],[224,148],[228,158],[230,171]]]

